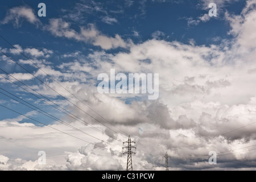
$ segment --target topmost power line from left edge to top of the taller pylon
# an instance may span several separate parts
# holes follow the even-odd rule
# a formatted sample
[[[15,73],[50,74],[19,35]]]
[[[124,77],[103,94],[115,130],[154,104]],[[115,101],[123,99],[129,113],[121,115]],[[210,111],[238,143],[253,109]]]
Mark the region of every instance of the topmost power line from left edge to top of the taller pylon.
[[[97,113],[95,110],[93,110],[89,105],[87,105],[84,101],[80,100],[78,97],[76,97],[73,93],[71,93],[68,89],[66,89],[63,85],[61,85],[58,81],[56,81],[53,77],[51,77],[50,75],[48,75],[48,73],[46,73],[42,68],[38,67],[37,64],[34,63],[34,61],[30,60],[26,55],[24,55],[21,51],[19,51],[19,49],[17,49],[15,46],[13,46],[13,44],[11,44],[8,40],[6,40],[5,38],[3,38],[2,35],[0,35],[0,37],[5,40],[5,42],[7,42],[11,47],[15,48],[16,51],[18,51],[20,54],[22,54],[24,57],[26,57],[26,59],[28,59],[32,64],[35,65],[35,67],[37,67],[38,69],[40,69],[42,72],[44,72],[49,78],[51,78],[53,81],[55,81],[58,85],[60,85],[62,88],[64,88],[68,93],[70,93],[73,97],[75,97],[77,100],[79,100],[80,102],[82,102],[82,104],[84,104],[85,106],[87,106],[90,110],[92,110],[94,113],[96,113],[98,116],[100,116],[101,118],[105,119],[104,117],[102,117],[102,115],[100,115],[99,113]],[[113,125],[113,123],[111,123],[110,121],[108,121],[107,119],[105,119],[105,121],[109,122],[111,125]],[[123,133],[125,133],[127,136],[129,136],[129,134],[127,134],[125,131],[119,129],[118,127],[116,127],[115,125],[113,125],[115,128],[117,128],[119,131],[122,131]]]

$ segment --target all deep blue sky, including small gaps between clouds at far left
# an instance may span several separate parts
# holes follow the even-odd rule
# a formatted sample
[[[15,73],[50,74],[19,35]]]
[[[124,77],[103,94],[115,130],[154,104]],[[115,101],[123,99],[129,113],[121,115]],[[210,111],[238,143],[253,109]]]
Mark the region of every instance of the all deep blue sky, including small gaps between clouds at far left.
[[[5,2],[1,6],[0,17],[3,19],[7,10],[15,6],[30,7],[37,14],[39,3],[40,1]],[[91,23],[105,35],[113,37],[118,34],[123,39],[131,39],[134,43],[152,39],[154,32],[160,32],[157,38],[160,40],[189,44],[193,39],[197,45],[206,46],[219,44],[222,39],[230,39],[231,36],[227,34],[230,28],[229,24],[221,16],[224,16],[224,11],[240,14],[243,5],[245,5],[245,1],[226,5],[218,10],[220,13],[217,18],[210,18],[208,22],[200,22],[195,26],[188,24],[188,18],[197,19],[209,11],[208,7],[203,7],[202,10],[203,5],[200,5],[198,1],[119,1],[118,3],[116,1],[64,1],[61,3],[45,1],[44,3],[47,6],[47,16],[38,18],[43,24],[47,24],[51,18],[62,18],[70,22],[74,30],[79,31],[79,27]],[[75,18],[73,18],[74,16]],[[110,18],[112,21],[108,22],[104,18]],[[68,59],[61,59],[61,55],[80,51],[86,57],[92,51],[102,50],[99,46],[93,46],[89,43],[55,37],[45,31],[42,26],[35,27],[34,24],[25,19],[21,18],[19,21],[20,26],[16,28],[11,23],[2,24],[1,35],[11,43],[23,47],[44,47],[53,50],[53,55],[47,58],[53,67],[69,61]],[[1,42],[1,46],[8,47],[5,42]],[[106,52],[116,53],[118,51],[127,50],[118,48],[109,49]],[[18,55],[14,59],[21,57]],[[16,65],[12,67],[6,65],[5,69],[10,73],[26,72]],[[33,71],[33,68],[30,68],[30,71]],[[8,87],[9,84],[4,86]],[[2,99],[5,100],[6,98],[3,97]],[[12,107],[15,108],[15,105]],[[26,108],[24,107],[23,111],[30,110]],[[13,113],[1,114],[1,119],[8,118],[10,115]]]

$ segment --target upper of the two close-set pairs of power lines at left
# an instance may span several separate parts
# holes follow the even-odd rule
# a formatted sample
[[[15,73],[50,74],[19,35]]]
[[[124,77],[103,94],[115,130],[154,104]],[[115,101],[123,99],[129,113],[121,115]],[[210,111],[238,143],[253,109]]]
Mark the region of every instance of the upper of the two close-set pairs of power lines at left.
[[[3,72],[5,72],[5,71],[4,71],[3,69],[1,69],[1,68],[0,68],[0,70],[3,71]],[[16,86],[19,86],[19,88],[21,88],[21,89],[25,90],[26,92],[32,94],[32,96],[35,96],[36,98],[39,98],[40,100],[42,100],[42,101],[45,102],[46,104],[48,104],[48,105],[54,107],[55,109],[61,111],[62,113],[68,115],[69,117],[75,119],[76,121],[79,121],[79,120],[80,120],[79,122],[81,122],[82,124],[85,124],[85,123],[86,123],[89,127],[91,127],[92,129],[94,129],[94,130],[100,132],[101,134],[107,135],[107,136],[110,137],[110,138],[113,138],[113,139],[115,139],[115,140],[118,140],[118,139],[116,139],[116,138],[114,138],[114,137],[112,137],[112,136],[110,136],[110,135],[108,135],[108,134],[102,132],[101,130],[97,129],[96,127],[90,125],[88,122],[83,121],[81,118],[77,117],[76,115],[72,114],[72,113],[69,112],[68,110],[64,109],[64,107],[61,107],[60,105],[56,104],[55,102],[52,102],[52,101],[49,100],[47,97],[43,96],[42,94],[40,94],[40,93],[37,92],[35,89],[33,89],[33,88],[31,88],[30,86],[28,86],[27,84],[24,84],[24,82],[18,80],[17,78],[15,78],[14,76],[10,75],[9,73],[7,73],[7,72],[5,72],[5,73],[6,73],[7,75],[11,76],[12,78],[14,78],[16,81],[20,82],[21,84],[27,86],[27,88],[30,88],[30,89],[33,90],[35,93],[39,94],[40,96],[42,96],[43,98],[45,98],[46,100],[48,100],[48,101],[51,102],[52,104],[56,105],[57,107],[55,107],[55,106],[49,104],[49,102],[43,100],[42,98],[36,96],[35,94],[33,94],[33,93],[31,93],[31,92],[29,92],[27,89],[24,89],[22,86],[20,86],[20,85],[16,84],[15,82],[11,81],[9,78],[7,78],[7,77],[5,77],[5,76],[3,76],[3,75],[0,75],[0,76],[2,76],[3,78],[6,78],[6,80],[8,80],[8,81],[12,82],[13,84],[15,84]],[[64,111],[66,111],[67,113],[69,113],[69,114],[71,114],[71,115],[69,115],[69,114],[65,113],[64,111],[60,110],[58,107],[60,107],[61,109],[63,109]],[[75,117],[76,117],[77,119],[76,119]],[[121,141],[121,140],[118,140],[118,142],[122,142],[122,141]]]

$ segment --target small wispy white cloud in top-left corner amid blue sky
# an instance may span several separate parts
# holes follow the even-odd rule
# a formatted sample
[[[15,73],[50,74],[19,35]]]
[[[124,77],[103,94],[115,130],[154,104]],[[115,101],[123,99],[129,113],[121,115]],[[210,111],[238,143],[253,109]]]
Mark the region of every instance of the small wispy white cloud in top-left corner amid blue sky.
[[[14,27],[18,28],[22,25],[22,20],[25,19],[28,22],[38,26],[40,20],[34,14],[34,11],[27,6],[18,6],[10,9],[5,18],[2,20],[2,24],[7,24],[9,22],[13,23]]]

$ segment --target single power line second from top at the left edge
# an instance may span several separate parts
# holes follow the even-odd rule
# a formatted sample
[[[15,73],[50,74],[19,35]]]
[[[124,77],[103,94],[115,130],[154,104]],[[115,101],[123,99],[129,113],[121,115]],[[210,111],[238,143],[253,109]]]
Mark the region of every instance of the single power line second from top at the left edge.
[[[35,77],[37,80],[39,80],[40,82],[42,82],[42,84],[46,85],[49,89],[53,90],[53,92],[59,94],[59,96],[63,97],[65,100],[67,100],[69,103],[71,103],[73,106],[77,107],[77,109],[81,110],[82,112],[84,112],[85,114],[89,115],[91,118],[93,118],[95,121],[101,123],[101,125],[106,126],[104,123],[98,121],[98,119],[94,118],[92,115],[90,115],[89,113],[86,113],[86,111],[82,110],[79,106],[73,104],[73,102],[69,101],[67,98],[65,98],[63,95],[61,95],[59,92],[57,92],[55,89],[51,88],[51,86],[49,86],[48,84],[46,84],[44,81],[40,80],[40,78],[36,77],[34,74],[32,74],[30,71],[28,71],[26,68],[22,67],[22,65],[20,65],[19,63],[17,63],[15,60],[13,60],[10,56],[6,55],[6,53],[2,52],[0,50],[1,53],[3,53],[3,55],[5,55],[6,57],[8,57],[11,61],[13,61],[14,63],[16,63],[17,65],[19,65],[19,67],[23,68],[25,71],[27,71],[28,73],[30,73],[30,75],[32,75],[33,77]],[[108,127],[108,129],[112,130],[114,133],[117,133],[117,131],[111,129],[110,127]]]

